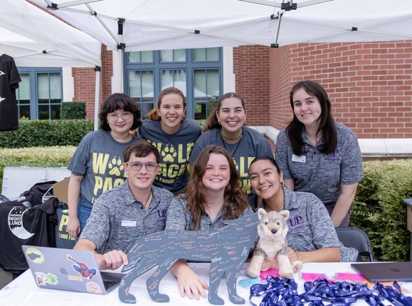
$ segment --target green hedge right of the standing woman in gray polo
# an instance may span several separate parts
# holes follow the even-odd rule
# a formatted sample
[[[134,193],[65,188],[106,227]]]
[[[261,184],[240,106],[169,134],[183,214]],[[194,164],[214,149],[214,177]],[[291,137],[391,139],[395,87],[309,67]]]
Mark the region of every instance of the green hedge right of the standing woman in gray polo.
[[[402,199],[412,197],[412,160],[364,162],[363,169],[350,225],[369,235],[376,260],[408,261],[410,232]]]

